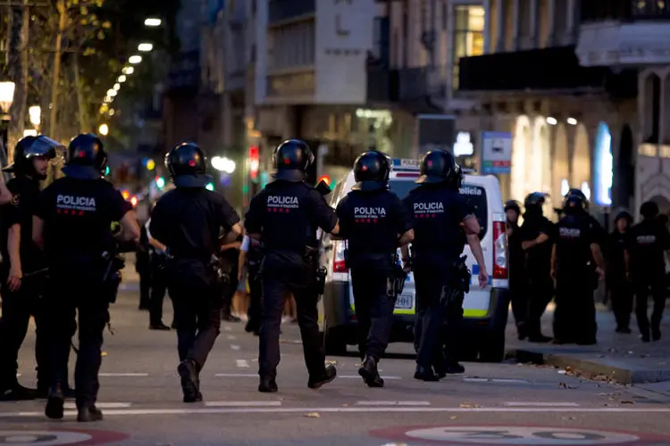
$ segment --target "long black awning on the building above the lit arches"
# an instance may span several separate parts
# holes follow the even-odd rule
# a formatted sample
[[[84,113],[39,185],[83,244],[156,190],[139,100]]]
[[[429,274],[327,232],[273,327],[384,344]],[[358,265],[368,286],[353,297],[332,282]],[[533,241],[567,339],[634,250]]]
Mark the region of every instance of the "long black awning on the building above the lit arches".
[[[635,97],[637,75],[604,67],[582,67],[574,46],[464,57],[459,90],[473,92],[603,92]]]

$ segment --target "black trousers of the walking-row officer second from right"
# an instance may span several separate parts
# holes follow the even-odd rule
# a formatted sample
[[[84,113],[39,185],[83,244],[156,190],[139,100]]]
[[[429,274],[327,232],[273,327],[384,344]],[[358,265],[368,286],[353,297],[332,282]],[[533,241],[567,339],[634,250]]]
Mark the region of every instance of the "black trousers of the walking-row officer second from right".
[[[389,272],[380,268],[351,268],[361,358],[379,360],[389,345],[396,300],[387,293],[388,280]]]

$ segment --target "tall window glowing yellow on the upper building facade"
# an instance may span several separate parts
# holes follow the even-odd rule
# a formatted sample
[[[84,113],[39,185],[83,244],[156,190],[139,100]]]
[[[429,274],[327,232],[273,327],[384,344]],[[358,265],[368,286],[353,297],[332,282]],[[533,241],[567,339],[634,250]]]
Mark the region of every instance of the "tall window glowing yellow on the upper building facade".
[[[483,6],[457,5],[454,8],[454,79],[453,88],[458,88],[458,62],[461,57],[484,54],[484,8]]]

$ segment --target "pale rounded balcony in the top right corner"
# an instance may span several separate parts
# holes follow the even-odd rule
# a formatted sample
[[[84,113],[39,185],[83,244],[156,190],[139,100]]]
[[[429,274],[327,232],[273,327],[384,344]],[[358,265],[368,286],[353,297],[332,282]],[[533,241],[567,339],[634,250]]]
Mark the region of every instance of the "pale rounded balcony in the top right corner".
[[[668,2],[582,2],[581,18],[576,54],[583,66],[670,62]]]

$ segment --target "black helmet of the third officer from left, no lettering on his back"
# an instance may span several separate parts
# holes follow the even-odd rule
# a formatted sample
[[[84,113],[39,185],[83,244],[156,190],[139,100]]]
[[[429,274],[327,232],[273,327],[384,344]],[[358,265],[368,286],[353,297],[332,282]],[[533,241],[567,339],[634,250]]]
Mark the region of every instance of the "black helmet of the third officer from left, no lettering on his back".
[[[194,143],[172,147],[165,155],[165,168],[177,187],[205,187],[212,181],[212,177],[206,174],[205,153]]]

